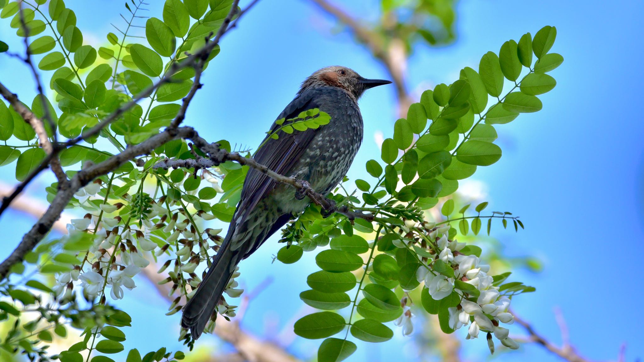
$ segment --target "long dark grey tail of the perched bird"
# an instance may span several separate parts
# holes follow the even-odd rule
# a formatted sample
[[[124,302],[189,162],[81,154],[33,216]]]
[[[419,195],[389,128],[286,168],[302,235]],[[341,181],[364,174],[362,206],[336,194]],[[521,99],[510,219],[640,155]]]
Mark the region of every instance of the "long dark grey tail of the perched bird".
[[[184,307],[181,325],[189,328],[194,339],[204,332],[205,325],[212,316],[220,296],[222,296],[228,281],[231,279],[237,263],[240,262],[240,251],[232,251],[231,243],[224,242],[217,252],[204,280],[199,285],[193,298]]]

